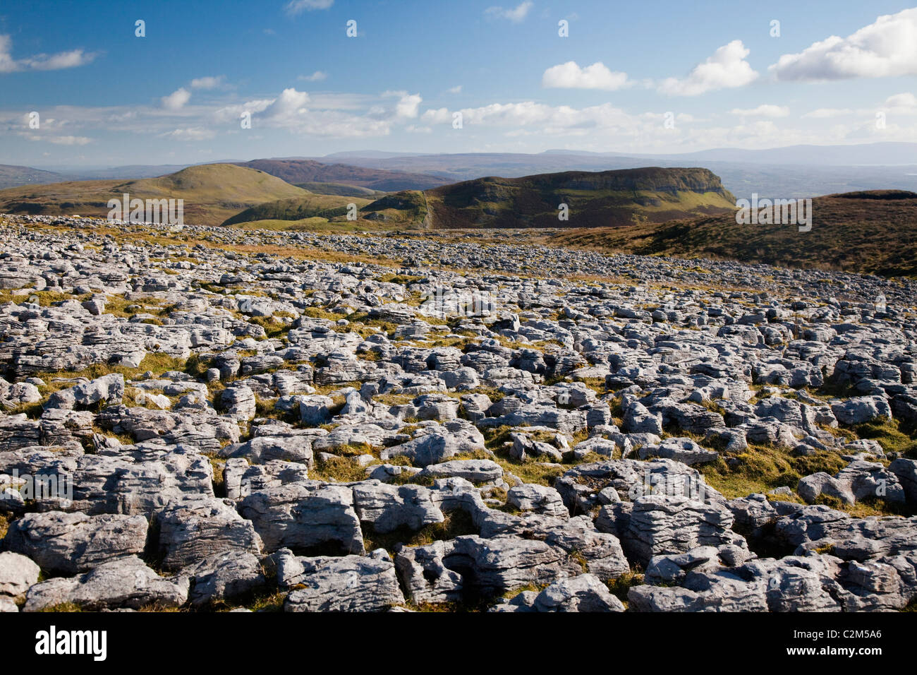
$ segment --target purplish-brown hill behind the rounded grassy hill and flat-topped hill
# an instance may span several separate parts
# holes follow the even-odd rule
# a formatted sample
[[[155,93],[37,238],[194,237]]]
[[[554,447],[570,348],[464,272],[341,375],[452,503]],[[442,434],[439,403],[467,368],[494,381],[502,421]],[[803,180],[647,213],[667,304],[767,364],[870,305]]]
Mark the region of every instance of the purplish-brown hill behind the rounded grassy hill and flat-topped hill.
[[[448,182],[447,179],[434,175],[371,169],[350,164],[328,164],[315,160],[252,160],[240,163],[239,166],[275,175],[287,183],[343,183],[380,192],[425,190]]]

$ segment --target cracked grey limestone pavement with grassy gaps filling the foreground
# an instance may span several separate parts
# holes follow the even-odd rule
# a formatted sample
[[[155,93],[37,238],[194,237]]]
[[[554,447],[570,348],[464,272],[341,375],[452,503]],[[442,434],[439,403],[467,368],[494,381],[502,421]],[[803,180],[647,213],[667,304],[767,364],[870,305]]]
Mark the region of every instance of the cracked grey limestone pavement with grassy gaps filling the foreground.
[[[0,218],[0,609],[914,602],[910,280],[481,237]]]

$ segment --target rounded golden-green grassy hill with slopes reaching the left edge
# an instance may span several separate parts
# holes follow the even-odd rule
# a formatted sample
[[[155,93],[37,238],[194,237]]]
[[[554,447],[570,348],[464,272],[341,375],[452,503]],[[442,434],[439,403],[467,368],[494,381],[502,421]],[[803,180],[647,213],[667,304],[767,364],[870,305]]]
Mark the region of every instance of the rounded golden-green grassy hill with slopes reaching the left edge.
[[[262,171],[235,164],[201,164],[158,178],[12,187],[0,190],[0,213],[105,217],[108,200],[125,193],[140,199],[183,199],[184,221],[195,225],[218,225],[256,204],[309,195]]]

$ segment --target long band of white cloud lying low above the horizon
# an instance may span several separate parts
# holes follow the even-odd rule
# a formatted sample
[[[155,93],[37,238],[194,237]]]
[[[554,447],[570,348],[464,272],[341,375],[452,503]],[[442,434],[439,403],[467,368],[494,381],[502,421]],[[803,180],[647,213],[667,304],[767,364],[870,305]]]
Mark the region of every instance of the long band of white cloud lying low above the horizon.
[[[189,84],[185,88],[194,98],[197,90]],[[889,96],[892,93],[894,96]],[[153,143],[168,141],[169,147],[179,144],[178,141],[188,141],[181,144],[205,148],[210,139],[231,141],[234,131],[246,141],[261,135],[271,142],[296,142],[297,137],[304,137],[316,143],[325,142],[324,139],[378,139],[398,134],[398,138],[413,144],[412,147],[419,144],[436,152],[437,141],[455,138],[456,132],[451,129],[453,113],[460,111],[465,132],[459,135],[470,143],[462,145],[467,148],[466,152],[472,152],[471,148],[478,148],[480,152],[511,152],[510,149],[512,152],[540,152],[546,147],[690,152],[711,147],[767,148],[797,143],[842,143],[857,138],[917,141],[917,107],[912,107],[917,103],[917,96],[914,95],[917,90],[913,88],[892,89],[878,100],[862,101],[858,107],[864,109],[851,110],[848,117],[823,120],[817,117],[830,118],[845,111],[810,113],[809,119],[800,120],[796,107],[801,104],[794,104],[790,116],[768,117],[768,107],[759,105],[767,98],[747,105],[747,109],[741,107],[742,104],[733,104],[735,115],[728,113],[729,107],[717,115],[691,110],[694,117],[678,113],[676,109],[677,123],[672,129],[664,124],[663,111],[668,106],[647,112],[625,111],[610,103],[572,107],[513,101],[480,107],[427,108],[419,93],[404,90],[373,95],[313,94],[289,87],[274,96],[246,100],[230,89],[226,90],[226,100],[197,103],[195,99],[192,103],[189,99],[178,110],[149,105],[47,107],[42,109],[39,132],[28,130],[22,107],[5,110],[0,104],[0,138],[5,134],[6,138],[19,138],[32,148],[30,153],[35,156],[53,142],[61,144],[54,150],[68,143],[74,148],[81,143],[93,143],[90,147],[95,147],[105,134],[112,133],[136,134],[138,139],[152,138]],[[460,100],[460,97],[452,100]],[[872,124],[875,127],[875,115],[882,110],[887,112],[888,118],[884,135],[865,126]],[[251,113],[254,130],[250,133],[238,131],[239,115],[244,111]],[[790,118],[798,124],[791,124]],[[177,119],[181,121],[176,122]],[[34,134],[35,141],[44,141],[44,145],[28,143],[27,134]],[[546,139],[552,139],[550,145],[545,144]],[[334,147],[333,141],[327,142],[331,146],[323,147]]]

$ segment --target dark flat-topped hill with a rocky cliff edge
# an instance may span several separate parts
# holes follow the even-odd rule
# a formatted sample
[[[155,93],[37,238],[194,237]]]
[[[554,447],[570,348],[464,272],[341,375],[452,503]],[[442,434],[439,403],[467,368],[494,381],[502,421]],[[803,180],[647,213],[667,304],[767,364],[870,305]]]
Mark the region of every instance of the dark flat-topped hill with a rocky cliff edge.
[[[569,219],[558,219],[561,204]],[[487,177],[423,192],[382,197],[364,218],[401,219],[426,228],[621,226],[732,211],[733,197],[707,169],[648,167],[625,171]]]

